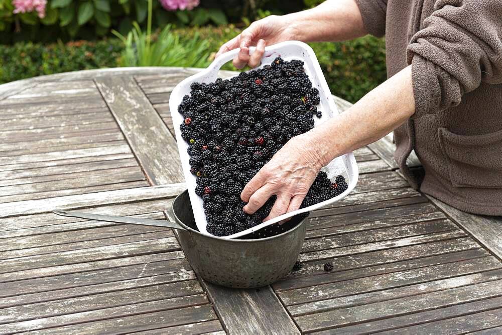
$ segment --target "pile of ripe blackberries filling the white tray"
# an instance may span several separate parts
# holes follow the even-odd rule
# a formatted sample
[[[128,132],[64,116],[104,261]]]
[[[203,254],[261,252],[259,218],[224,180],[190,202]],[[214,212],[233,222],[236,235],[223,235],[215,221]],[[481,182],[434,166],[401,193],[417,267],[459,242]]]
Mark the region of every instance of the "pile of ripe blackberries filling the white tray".
[[[182,137],[189,143],[195,193],[202,197],[207,231],[227,236],[260,224],[276,196],[255,214],[243,212],[244,186],[296,135],[314,127],[319,91],[312,87],[303,62],[285,62],[241,72],[229,80],[192,83],[178,111]],[[331,182],[319,172],[302,207],[330,199],[347,189],[342,176]]]

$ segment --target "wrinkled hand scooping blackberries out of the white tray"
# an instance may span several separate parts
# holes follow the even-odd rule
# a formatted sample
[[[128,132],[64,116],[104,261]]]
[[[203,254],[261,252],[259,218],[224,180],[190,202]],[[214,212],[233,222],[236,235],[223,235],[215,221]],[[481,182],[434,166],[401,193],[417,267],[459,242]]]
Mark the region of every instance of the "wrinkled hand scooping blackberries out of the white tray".
[[[289,140],[242,190],[240,197],[248,202],[244,211],[253,214],[272,195],[277,200],[264,221],[300,208],[323,166],[315,142],[309,132]]]

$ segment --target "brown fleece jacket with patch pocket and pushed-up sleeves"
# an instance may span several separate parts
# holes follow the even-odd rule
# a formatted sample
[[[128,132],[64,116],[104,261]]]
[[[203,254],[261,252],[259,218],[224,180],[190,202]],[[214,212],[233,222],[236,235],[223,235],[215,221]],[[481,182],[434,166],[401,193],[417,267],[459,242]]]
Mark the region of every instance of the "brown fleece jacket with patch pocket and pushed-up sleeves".
[[[388,75],[412,65],[416,111],[394,132],[403,174],[458,209],[502,215],[502,0],[356,2],[366,30],[386,36]]]

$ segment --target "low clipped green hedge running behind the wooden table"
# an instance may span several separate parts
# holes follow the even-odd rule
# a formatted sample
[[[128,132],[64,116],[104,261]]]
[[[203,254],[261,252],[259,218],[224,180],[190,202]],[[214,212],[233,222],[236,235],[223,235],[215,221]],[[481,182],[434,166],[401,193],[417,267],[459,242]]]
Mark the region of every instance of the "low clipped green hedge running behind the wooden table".
[[[198,32],[216,51],[239,33],[233,26],[184,29],[180,35],[190,39]],[[385,43],[364,37],[343,43],[312,43],[331,92],[355,102],[386,79]],[[117,67],[123,49],[117,39],[99,42],[77,41],[41,45],[17,43],[0,45],[0,83],[76,70]],[[224,67],[235,70],[231,64]]]

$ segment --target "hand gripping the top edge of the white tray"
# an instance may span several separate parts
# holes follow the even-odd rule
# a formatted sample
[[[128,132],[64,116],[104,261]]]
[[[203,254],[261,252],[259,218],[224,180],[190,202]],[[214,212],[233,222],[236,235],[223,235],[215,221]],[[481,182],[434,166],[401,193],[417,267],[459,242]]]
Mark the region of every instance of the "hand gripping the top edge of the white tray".
[[[246,64],[256,68],[261,63],[266,45],[296,40],[297,35],[295,28],[285,16],[271,15],[253,22],[242,33],[222,45],[215,58],[227,51],[240,48],[233,59],[233,65],[237,69],[242,69]],[[256,46],[252,56],[249,56],[249,46]]]

